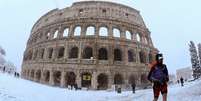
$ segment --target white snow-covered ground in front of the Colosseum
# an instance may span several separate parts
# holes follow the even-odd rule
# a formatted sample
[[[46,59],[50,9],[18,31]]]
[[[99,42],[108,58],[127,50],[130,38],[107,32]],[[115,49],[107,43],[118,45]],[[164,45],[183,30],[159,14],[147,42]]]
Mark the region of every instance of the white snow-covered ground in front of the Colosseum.
[[[49,87],[0,73],[0,101],[152,101],[152,90],[74,91]],[[161,97],[160,97],[160,100]],[[201,101],[201,81],[169,86],[168,101]]]

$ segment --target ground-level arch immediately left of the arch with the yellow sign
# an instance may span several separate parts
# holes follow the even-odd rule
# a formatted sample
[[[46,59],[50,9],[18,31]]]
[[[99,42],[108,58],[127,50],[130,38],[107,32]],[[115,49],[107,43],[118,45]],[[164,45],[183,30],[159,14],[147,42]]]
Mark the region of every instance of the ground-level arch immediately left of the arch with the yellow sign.
[[[75,82],[75,80],[76,80],[76,75],[75,75],[75,73],[74,72],[68,72],[67,74],[66,74],[66,77],[65,77],[66,79],[66,86],[68,86],[68,85],[75,85],[76,84],[76,82]]]

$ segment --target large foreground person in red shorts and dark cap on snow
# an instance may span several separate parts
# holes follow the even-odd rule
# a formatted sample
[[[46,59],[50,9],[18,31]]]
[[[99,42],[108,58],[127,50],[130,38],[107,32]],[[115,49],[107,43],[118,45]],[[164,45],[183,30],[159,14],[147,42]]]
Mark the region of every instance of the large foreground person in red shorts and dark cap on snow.
[[[163,101],[167,101],[167,82],[169,81],[168,70],[163,64],[163,55],[156,55],[156,62],[151,65],[151,70],[148,74],[148,80],[153,83],[154,100],[157,101],[160,92],[163,96]]]

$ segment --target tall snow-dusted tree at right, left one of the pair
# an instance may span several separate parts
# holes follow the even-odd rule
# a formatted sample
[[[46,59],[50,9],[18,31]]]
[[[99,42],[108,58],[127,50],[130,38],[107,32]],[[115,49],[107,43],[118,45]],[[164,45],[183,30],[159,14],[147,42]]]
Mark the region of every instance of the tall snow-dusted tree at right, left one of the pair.
[[[190,51],[191,64],[192,64],[192,70],[193,70],[193,78],[197,79],[201,76],[201,73],[200,73],[201,67],[200,67],[200,62],[198,59],[196,46],[193,41],[190,41],[189,47],[190,47],[189,51]]]

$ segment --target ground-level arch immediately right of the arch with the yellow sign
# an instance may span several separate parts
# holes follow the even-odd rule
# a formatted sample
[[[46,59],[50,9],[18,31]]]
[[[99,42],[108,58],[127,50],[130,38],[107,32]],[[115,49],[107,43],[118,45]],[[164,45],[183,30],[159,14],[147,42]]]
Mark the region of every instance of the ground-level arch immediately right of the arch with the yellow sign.
[[[105,74],[98,75],[98,90],[106,90],[108,88],[108,77]]]

